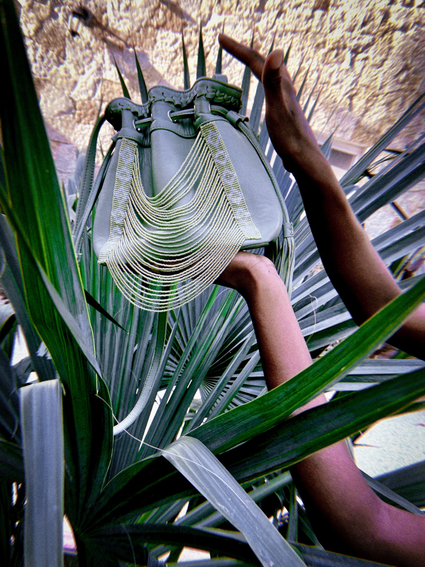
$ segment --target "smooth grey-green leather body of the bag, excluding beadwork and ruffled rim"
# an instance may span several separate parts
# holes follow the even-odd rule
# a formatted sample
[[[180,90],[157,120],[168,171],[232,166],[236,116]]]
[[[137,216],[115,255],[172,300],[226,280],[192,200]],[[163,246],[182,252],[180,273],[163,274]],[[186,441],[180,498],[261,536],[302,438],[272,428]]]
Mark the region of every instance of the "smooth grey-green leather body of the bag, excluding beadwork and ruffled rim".
[[[176,110],[175,105],[169,101],[152,103],[150,147],[146,147],[146,137],[143,142],[138,143],[142,184],[147,196],[151,197],[162,191],[186,159],[196,139],[198,125],[213,120],[235,168],[249,213],[261,234],[261,239],[245,240],[241,248],[257,248],[273,242],[282,228],[282,205],[256,149],[237,126],[232,125],[224,117],[209,113],[209,102],[205,96],[195,101],[195,108],[196,116],[193,119],[173,121],[169,112]],[[202,114],[198,113],[198,108]],[[138,141],[138,137],[141,136],[134,128],[133,115],[130,111],[122,112],[120,132],[121,135],[129,136],[131,129],[134,129],[136,136],[131,136],[131,139]],[[116,135],[117,146],[96,205],[92,240],[96,256],[99,256],[101,248],[109,238],[115,172],[121,145],[120,132]],[[192,189],[174,206],[188,202],[193,197],[194,191],[195,189]]]

